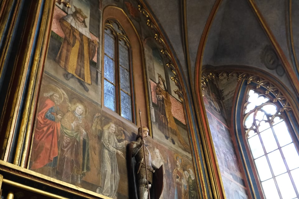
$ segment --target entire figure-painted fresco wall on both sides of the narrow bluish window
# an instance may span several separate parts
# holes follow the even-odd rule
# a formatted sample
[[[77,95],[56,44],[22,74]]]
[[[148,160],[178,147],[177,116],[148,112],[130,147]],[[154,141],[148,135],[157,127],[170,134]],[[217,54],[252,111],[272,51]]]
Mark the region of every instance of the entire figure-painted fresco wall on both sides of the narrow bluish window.
[[[129,198],[128,144],[135,141],[138,127],[101,109],[101,36],[96,31],[101,22],[95,15],[101,16],[102,11],[93,4],[93,0],[74,0],[71,8],[55,6],[28,169],[95,196],[125,199]],[[183,105],[171,91],[175,85],[169,81],[169,71],[164,71],[153,51],[151,55],[155,71],[147,84],[153,101],[151,116],[157,120],[146,146],[153,167],[164,168],[160,198],[196,199],[196,171]]]

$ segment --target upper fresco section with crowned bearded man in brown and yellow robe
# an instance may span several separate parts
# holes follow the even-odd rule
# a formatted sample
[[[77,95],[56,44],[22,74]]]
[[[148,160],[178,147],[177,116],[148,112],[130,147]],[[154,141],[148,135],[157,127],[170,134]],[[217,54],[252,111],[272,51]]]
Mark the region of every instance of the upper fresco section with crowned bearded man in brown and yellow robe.
[[[91,19],[91,3],[73,1],[67,12],[55,7],[44,72],[100,105],[100,35],[89,30],[89,23],[99,29],[100,21]]]

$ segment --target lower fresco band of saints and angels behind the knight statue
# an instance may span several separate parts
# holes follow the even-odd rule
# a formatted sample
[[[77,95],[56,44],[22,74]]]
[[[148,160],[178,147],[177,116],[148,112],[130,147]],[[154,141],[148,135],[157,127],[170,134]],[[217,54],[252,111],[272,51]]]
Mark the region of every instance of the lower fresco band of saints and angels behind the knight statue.
[[[110,198],[128,198],[127,125],[44,74],[29,169]],[[191,160],[148,137],[155,167],[163,165],[160,198],[197,198]]]

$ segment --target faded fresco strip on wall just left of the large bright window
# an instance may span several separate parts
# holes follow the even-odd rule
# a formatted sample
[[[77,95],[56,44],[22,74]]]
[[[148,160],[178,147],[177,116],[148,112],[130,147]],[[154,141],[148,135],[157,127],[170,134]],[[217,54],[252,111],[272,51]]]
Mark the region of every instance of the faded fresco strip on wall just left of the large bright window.
[[[231,140],[230,129],[225,115],[222,115],[224,112],[221,101],[222,96],[216,81],[206,82],[206,86],[204,103],[225,195],[227,198],[232,199],[248,198],[235,148]],[[218,92],[215,93],[215,90],[218,90]]]

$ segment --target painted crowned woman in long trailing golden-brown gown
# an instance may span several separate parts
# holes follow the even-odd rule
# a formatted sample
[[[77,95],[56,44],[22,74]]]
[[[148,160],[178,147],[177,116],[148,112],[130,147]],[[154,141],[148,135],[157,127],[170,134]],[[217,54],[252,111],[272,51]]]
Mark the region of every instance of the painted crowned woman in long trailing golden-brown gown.
[[[159,130],[164,133],[164,136],[167,140],[170,138],[173,144],[175,144],[174,140],[178,138],[178,141],[182,144],[182,146],[185,149],[189,149],[189,146],[183,140],[183,137],[178,130],[177,124],[174,121],[171,112],[170,96],[165,86],[165,80],[159,73],[158,83],[156,86],[156,95],[159,112]]]

